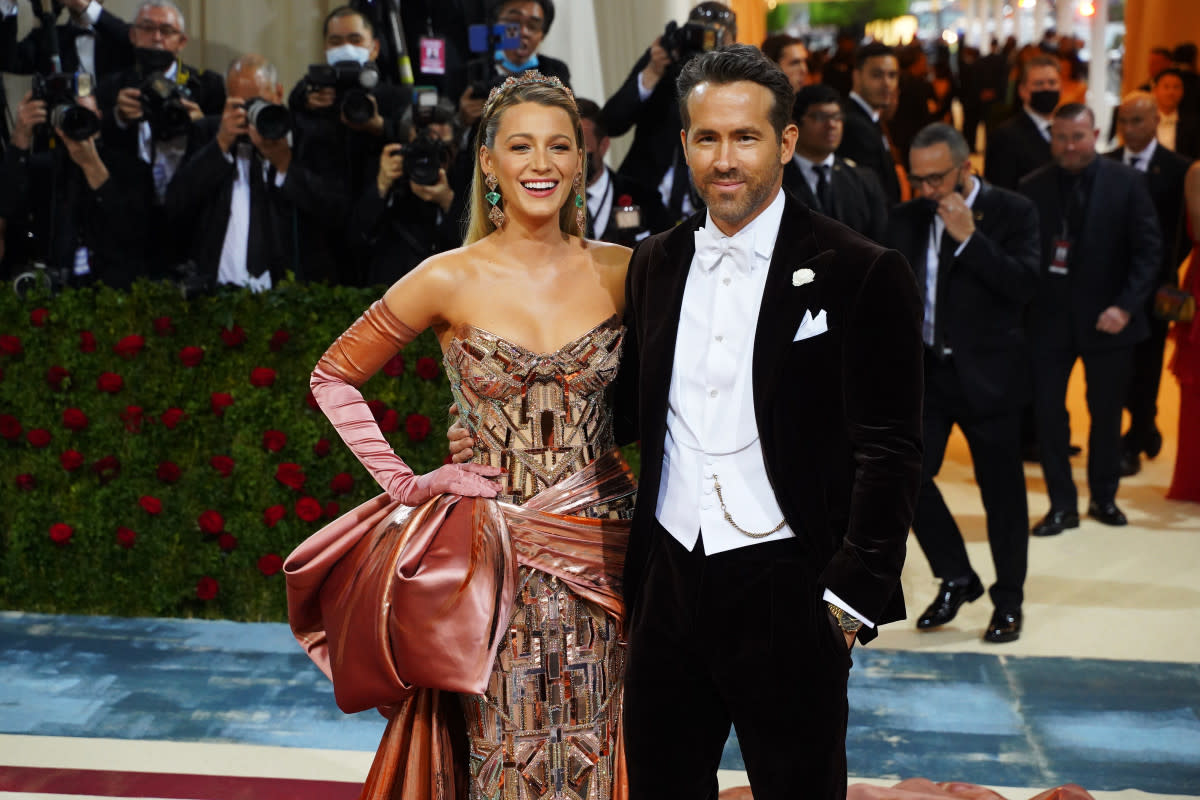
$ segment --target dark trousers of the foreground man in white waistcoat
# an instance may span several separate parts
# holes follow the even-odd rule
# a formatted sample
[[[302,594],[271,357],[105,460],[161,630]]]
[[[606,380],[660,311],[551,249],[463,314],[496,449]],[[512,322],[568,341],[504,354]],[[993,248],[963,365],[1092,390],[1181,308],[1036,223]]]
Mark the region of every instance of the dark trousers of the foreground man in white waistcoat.
[[[755,800],[846,796],[850,651],[797,540],[708,557],[656,522],[625,669],[630,800],[716,800],[732,724]]]

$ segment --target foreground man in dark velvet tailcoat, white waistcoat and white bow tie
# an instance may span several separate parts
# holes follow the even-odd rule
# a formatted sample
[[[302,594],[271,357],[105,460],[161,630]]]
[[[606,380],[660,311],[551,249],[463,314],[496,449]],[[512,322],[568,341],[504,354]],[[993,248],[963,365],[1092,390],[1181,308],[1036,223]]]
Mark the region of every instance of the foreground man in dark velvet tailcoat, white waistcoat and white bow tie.
[[[636,413],[625,560],[631,800],[844,798],[856,632],[902,619],[920,480],[920,301],[904,258],[781,190],[797,130],[756,48],[682,71],[708,211],[634,251],[614,405]]]

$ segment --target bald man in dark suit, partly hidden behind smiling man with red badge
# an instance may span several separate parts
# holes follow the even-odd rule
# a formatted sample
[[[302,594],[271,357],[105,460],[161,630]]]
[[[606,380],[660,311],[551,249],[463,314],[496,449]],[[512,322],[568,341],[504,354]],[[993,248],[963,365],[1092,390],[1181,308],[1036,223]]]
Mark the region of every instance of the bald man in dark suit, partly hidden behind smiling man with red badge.
[[[1158,224],[1163,231],[1163,259],[1158,285],[1178,284],[1178,266],[1188,253],[1183,237],[1183,178],[1190,162],[1164,148],[1157,138],[1158,104],[1147,91],[1126,95],[1117,109],[1117,133],[1124,146],[1108,154],[1146,176]],[[1153,458],[1163,446],[1154,417],[1158,414],[1158,384],[1163,373],[1163,348],[1168,323],[1153,314],[1154,297],[1146,305],[1150,338],[1134,349],[1133,377],[1124,407],[1129,429],[1121,439],[1121,474],[1136,475],[1141,456]]]

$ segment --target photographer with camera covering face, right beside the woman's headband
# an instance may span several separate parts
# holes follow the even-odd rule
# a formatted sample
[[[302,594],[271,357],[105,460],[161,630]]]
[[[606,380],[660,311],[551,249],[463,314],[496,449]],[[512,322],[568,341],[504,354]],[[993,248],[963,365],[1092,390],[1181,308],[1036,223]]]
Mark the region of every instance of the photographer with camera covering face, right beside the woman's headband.
[[[384,146],[374,186],[350,215],[350,240],[368,253],[370,285],[395,283],[430,255],[462,245],[472,154],[455,146],[454,107],[421,101],[419,95],[404,118],[406,144]]]

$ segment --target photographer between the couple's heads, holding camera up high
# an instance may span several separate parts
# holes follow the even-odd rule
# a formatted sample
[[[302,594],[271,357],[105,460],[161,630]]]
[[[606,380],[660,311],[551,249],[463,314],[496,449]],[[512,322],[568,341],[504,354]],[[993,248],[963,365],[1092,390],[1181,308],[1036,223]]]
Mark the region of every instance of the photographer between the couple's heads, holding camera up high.
[[[664,36],[654,40],[605,103],[604,119],[611,136],[637,126],[629,155],[617,172],[656,186],[673,221],[689,216],[698,204],[691,198],[691,179],[679,143],[683,122],[676,78],[691,56],[736,38],[733,11],[721,2],[702,2],[691,10],[683,26],[667,25]]]

